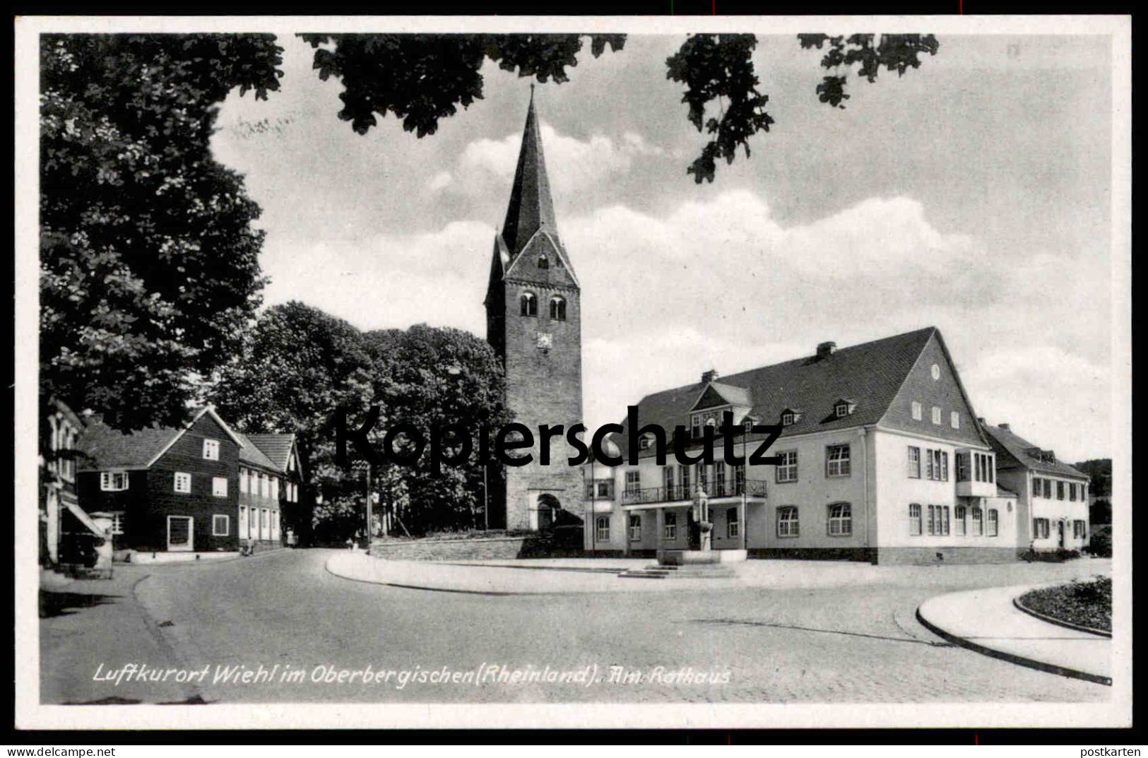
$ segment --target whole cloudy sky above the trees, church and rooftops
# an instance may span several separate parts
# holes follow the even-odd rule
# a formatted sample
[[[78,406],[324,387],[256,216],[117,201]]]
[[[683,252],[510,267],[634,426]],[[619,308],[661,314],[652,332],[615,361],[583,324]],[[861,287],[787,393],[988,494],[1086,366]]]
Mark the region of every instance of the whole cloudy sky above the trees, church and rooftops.
[[[903,78],[820,103],[816,52],[760,37],[771,131],[696,185],[703,138],[665,60],[681,36],[589,51],[538,85],[560,235],[582,281],[587,423],[689,384],[938,326],[977,413],[1068,459],[1108,456],[1108,40],[939,34]],[[484,99],[417,139],[340,122],[335,80],[280,37],[282,90],[224,103],[212,146],[267,231],[267,304],[360,328],[484,335],[494,233],[529,98],[488,64]]]

